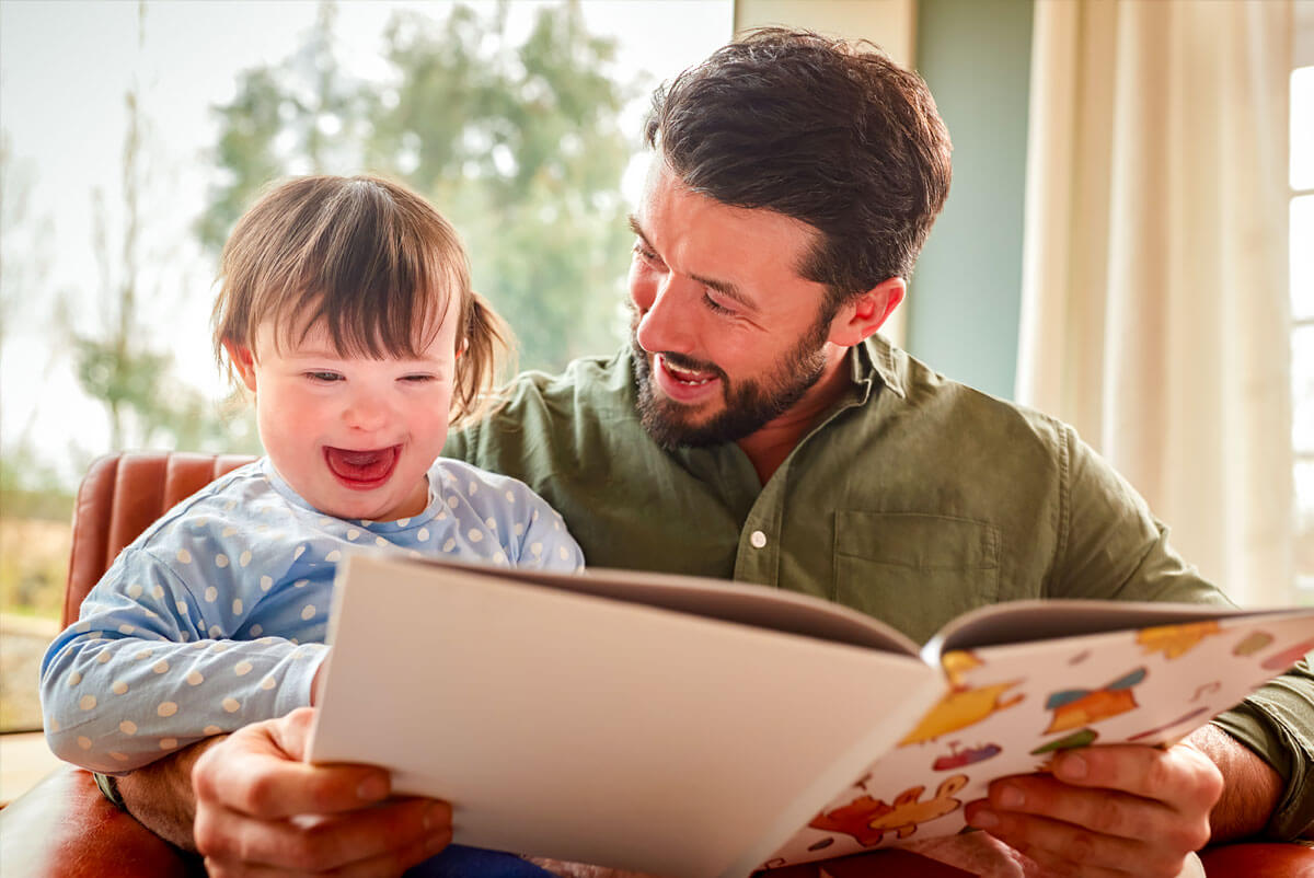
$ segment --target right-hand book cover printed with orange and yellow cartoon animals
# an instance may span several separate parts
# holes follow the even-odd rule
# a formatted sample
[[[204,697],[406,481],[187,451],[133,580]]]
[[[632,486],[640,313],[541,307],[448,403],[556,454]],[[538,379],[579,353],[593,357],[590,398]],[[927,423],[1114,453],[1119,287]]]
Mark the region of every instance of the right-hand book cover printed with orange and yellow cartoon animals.
[[[1077,607],[1021,609],[982,618],[991,632],[1001,620],[1021,622],[1003,626],[1014,628],[1005,639],[1028,630],[1049,639],[945,652],[945,698],[769,865],[959,832],[962,807],[983,798],[992,779],[1046,772],[1067,748],[1180,740],[1314,649],[1314,609],[1219,615],[1210,607],[1097,605],[1101,627],[1110,619],[1172,622],[1070,637],[1054,637],[1045,622]]]

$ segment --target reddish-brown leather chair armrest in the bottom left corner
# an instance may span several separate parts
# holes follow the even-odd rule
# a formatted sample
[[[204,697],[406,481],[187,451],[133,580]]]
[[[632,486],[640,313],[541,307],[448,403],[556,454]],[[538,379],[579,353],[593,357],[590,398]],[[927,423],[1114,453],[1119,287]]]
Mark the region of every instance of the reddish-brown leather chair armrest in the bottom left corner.
[[[89,772],[62,766],[0,810],[0,873],[32,878],[185,878],[172,845],[100,794]]]

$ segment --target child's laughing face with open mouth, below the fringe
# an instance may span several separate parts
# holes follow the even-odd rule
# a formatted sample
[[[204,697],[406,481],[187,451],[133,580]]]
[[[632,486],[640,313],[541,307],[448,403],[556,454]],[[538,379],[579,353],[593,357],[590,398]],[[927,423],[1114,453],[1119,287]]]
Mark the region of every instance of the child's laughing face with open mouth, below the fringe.
[[[227,347],[255,393],[260,442],[279,474],[336,518],[423,511],[424,473],[447,440],[456,319],[449,314],[414,360],[343,358],[322,325],[300,342],[284,340],[281,351],[273,340],[265,323],[254,356]]]

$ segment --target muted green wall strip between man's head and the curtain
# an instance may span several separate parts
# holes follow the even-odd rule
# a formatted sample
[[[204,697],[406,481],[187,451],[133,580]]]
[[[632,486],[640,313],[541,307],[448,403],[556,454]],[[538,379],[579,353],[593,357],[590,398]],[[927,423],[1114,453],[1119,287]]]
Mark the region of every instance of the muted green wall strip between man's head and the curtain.
[[[907,348],[1012,397],[1031,1],[920,0],[915,54],[954,142],[954,183],[909,287]]]

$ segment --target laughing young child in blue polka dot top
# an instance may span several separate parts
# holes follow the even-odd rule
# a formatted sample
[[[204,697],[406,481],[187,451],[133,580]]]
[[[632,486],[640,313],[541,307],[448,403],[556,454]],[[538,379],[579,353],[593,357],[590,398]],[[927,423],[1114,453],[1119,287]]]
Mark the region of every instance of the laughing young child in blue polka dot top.
[[[125,548],[46,652],[46,739],[96,772],[310,705],[348,552],[583,563],[526,485],[439,459],[502,330],[420,197],[374,177],[280,185],[238,222],[221,277],[215,352],[255,394],[267,455]]]

